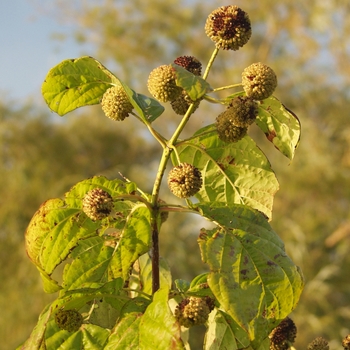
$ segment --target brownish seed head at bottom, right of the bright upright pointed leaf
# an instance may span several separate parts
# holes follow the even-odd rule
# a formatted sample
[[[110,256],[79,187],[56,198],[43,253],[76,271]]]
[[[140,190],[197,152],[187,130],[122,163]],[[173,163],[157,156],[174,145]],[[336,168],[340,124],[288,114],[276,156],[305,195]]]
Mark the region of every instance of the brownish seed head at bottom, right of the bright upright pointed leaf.
[[[210,299],[210,298],[209,298]],[[175,317],[181,326],[192,327],[204,324],[214,306],[206,298],[189,297],[183,299],[175,309]]]

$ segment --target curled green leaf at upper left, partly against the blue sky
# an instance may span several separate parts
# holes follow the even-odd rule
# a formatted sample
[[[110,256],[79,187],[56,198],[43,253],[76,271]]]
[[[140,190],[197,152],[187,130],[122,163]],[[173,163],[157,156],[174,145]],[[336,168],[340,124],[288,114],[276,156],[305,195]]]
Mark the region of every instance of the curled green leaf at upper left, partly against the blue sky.
[[[152,122],[164,107],[151,97],[137,94],[93,57],[64,60],[53,67],[42,85],[49,108],[63,116],[79,107],[99,104],[113,85],[121,85],[144,122]]]

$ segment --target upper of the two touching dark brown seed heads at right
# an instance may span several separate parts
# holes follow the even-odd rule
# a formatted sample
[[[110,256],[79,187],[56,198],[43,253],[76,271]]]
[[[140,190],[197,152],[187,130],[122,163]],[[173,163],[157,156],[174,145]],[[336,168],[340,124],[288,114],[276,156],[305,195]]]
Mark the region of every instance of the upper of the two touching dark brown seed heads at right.
[[[247,127],[255,121],[258,115],[258,103],[250,97],[239,96],[231,101],[227,110],[231,113],[234,125]]]

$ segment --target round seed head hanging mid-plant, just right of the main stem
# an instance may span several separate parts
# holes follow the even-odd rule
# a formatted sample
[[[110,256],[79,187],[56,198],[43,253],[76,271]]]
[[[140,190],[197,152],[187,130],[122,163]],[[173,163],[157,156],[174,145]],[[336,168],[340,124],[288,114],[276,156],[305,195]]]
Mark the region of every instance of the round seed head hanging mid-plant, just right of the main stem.
[[[179,198],[191,197],[202,187],[202,174],[193,165],[181,163],[169,172],[168,186]]]

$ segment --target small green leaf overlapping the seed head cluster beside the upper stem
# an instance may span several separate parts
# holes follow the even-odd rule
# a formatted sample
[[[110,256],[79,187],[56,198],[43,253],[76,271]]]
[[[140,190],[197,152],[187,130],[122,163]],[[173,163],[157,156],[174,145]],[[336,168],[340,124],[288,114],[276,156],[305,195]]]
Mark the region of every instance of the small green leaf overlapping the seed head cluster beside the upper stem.
[[[194,75],[185,68],[172,64],[176,72],[176,85],[181,86],[192,101],[197,101],[203,97],[207,92],[213,89],[210,85],[198,75]]]

